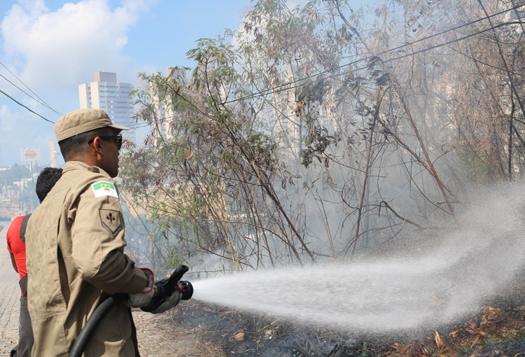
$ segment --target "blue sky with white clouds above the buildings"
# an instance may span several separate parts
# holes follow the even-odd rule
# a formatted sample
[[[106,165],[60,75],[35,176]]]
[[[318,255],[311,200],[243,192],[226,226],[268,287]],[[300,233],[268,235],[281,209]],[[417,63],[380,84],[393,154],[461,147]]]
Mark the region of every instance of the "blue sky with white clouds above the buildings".
[[[49,141],[55,140],[50,122],[78,109],[78,85],[92,82],[94,72],[116,72],[119,82],[137,85],[137,73],[193,66],[186,52],[196,41],[238,29],[251,5],[250,0],[0,1],[0,167],[27,165],[20,158],[23,148],[39,148],[38,165],[49,165]]]

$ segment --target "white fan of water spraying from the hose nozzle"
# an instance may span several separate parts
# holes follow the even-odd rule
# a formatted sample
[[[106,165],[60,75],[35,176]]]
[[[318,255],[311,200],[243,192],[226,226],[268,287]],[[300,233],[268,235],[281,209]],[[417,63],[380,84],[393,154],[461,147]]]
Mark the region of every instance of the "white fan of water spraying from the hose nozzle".
[[[399,253],[199,279],[193,299],[380,335],[415,337],[455,323],[525,267],[525,189],[491,194],[454,224],[403,241]]]

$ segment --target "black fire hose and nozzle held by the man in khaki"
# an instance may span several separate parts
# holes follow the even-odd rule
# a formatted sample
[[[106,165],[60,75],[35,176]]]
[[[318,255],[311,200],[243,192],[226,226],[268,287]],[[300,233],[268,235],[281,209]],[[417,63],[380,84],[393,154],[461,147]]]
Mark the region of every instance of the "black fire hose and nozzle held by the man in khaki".
[[[155,290],[153,300],[155,300],[155,302],[141,309],[147,312],[153,311],[159,307],[162,302],[164,302],[165,297],[172,295],[172,293],[174,293],[176,290],[182,294],[181,300],[190,300],[193,295],[193,286],[189,281],[180,281],[184,273],[188,272],[189,269],[190,268],[188,268],[186,265],[181,265],[175,269],[173,274],[169,276],[169,279],[155,281],[155,284],[153,285],[153,289]],[[126,294],[112,295],[108,299],[104,300],[104,302],[99,304],[96,309],[94,309],[93,314],[87,320],[82,330],[80,330],[80,333],[78,334],[78,337],[71,348],[71,352],[69,352],[69,357],[82,356],[87,342],[90,340],[93,331],[97,328],[100,321],[102,321],[102,318],[106,316],[109,310],[115,306],[115,304],[122,302],[126,296]]]

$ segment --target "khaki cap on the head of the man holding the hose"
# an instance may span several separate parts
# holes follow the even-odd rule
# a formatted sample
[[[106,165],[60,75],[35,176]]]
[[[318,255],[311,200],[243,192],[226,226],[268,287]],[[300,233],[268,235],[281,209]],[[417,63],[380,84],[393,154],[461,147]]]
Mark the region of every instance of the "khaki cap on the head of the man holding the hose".
[[[111,122],[108,114],[102,109],[78,109],[61,116],[55,123],[57,141],[74,137],[101,127],[114,127],[120,130],[129,130],[129,127],[116,125]]]

